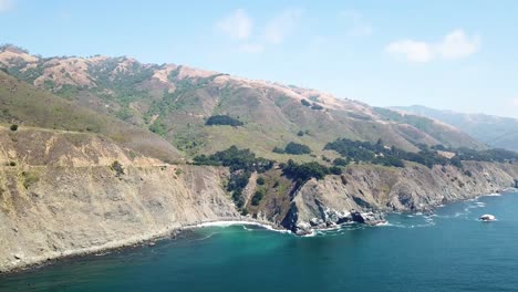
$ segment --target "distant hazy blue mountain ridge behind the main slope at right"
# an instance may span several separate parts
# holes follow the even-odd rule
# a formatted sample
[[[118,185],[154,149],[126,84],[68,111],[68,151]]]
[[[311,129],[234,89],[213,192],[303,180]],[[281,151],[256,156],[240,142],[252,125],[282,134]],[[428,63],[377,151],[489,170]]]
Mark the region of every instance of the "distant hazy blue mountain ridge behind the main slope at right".
[[[464,114],[421,105],[394,106],[392,108],[444,122],[491,147],[518,152],[518,119],[516,118]]]

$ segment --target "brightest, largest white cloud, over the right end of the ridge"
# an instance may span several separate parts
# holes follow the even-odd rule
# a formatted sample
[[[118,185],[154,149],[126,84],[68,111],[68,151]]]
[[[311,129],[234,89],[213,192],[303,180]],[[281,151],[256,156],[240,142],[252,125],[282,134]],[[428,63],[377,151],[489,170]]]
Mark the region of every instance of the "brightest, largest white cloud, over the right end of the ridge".
[[[400,40],[390,43],[385,51],[392,55],[403,55],[410,62],[429,62],[435,59],[454,60],[472,55],[480,48],[478,35],[469,36],[457,29],[447,33],[438,42]]]

